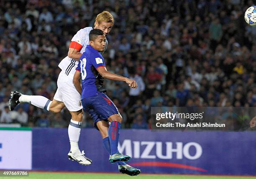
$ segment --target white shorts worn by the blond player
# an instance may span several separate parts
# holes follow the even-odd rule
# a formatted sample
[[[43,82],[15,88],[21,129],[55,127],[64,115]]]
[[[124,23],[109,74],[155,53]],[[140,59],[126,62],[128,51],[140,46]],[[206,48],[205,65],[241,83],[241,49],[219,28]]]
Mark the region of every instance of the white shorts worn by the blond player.
[[[54,95],[55,100],[63,102],[69,111],[79,111],[83,108],[81,95],[74,87],[73,79],[63,71],[59,73],[57,86],[58,88]]]

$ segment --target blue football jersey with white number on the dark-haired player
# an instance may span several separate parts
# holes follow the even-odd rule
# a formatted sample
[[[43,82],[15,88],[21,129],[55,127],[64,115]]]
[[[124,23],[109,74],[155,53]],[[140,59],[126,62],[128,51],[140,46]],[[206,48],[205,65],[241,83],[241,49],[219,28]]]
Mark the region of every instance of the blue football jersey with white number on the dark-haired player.
[[[97,91],[106,91],[103,88],[104,78],[97,71],[101,66],[105,66],[101,53],[87,45],[76,68],[80,71],[82,80],[82,99],[95,96]]]

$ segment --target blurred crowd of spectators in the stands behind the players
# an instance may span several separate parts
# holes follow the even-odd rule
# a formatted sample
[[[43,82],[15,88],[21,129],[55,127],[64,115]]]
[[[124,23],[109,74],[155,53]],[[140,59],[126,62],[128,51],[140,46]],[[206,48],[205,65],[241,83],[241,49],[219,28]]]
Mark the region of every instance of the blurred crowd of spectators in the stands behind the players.
[[[150,128],[151,106],[256,106],[256,28],[244,21],[252,0],[2,0],[0,123],[67,127],[28,103],[8,110],[10,91],[53,99],[59,62],[81,28],[108,10],[115,24],[104,53],[108,71],[136,90],[105,80],[124,127]],[[83,127],[93,127],[84,114]]]

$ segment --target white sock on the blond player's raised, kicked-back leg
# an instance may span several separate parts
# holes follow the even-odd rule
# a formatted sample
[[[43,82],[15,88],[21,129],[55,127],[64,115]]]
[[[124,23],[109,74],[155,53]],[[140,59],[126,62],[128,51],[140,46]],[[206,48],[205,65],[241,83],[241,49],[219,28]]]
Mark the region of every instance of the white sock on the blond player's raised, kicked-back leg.
[[[25,95],[22,94],[19,98],[20,103],[31,103],[34,106],[38,108],[44,108],[47,111],[49,111],[50,105],[52,103],[51,100],[44,96],[30,96],[30,95]]]

